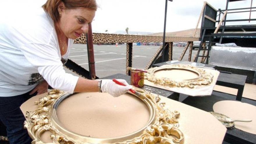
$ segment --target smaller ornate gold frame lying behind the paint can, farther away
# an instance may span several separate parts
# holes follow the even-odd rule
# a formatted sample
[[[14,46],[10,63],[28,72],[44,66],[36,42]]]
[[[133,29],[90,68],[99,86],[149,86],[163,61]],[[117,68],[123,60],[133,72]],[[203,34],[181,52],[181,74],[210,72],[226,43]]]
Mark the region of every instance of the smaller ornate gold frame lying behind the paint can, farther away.
[[[198,74],[198,77],[195,79],[186,79],[181,81],[175,81],[169,78],[157,78],[155,77],[155,72],[159,70],[188,70],[191,72],[195,72]],[[147,73],[144,75],[144,79],[147,79],[154,84],[158,84],[161,86],[169,86],[169,87],[189,87],[194,88],[195,85],[209,85],[213,80],[213,75],[211,73],[206,72],[202,68],[193,67],[191,65],[163,65],[161,67],[153,67],[147,70]]]

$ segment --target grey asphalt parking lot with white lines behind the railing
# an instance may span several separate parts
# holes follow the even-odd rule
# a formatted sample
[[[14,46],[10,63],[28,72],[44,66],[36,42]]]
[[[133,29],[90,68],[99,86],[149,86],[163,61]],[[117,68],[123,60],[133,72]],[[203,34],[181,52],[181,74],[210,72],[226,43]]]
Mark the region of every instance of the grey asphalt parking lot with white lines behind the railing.
[[[145,69],[147,63],[159,47],[153,45],[133,45],[132,67]],[[117,73],[125,74],[126,44],[117,46],[93,45],[93,48],[97,77],[101,78]],[[173,47],[173,60],[179,59],[183,49],[184,47]],[[197,49],[192,51],[192,58],[196,51]],[[182,61],[188,61],[188,55],[189,49],[186,51]],[[72,44],[69,58],[86,70],[89,70],[86,44]],[[68,73],[74,74],[74,72],[66,68],[65,70]]]

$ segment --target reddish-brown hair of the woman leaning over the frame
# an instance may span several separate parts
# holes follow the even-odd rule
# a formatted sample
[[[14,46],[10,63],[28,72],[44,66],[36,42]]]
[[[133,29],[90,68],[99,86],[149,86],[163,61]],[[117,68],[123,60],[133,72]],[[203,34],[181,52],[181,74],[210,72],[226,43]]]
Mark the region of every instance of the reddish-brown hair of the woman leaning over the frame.
[[[42,8],[51,16],[54,22],[58,22],[60,15],[58,12],[58,5],[63,2],[67,9],[73,8],[89,8],[97,10],[97,3],[95,0],[47,0]]]

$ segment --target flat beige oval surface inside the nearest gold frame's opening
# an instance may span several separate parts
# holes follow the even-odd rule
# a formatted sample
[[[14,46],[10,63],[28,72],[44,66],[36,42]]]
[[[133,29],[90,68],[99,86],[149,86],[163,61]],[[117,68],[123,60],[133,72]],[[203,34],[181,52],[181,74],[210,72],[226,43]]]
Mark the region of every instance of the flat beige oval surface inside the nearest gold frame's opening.
[[[150,111],[131,94],[112,97],[108,93],[78,93],[60,103],[57,116],[66,129],[76,134],[116,138],[144,127]]]

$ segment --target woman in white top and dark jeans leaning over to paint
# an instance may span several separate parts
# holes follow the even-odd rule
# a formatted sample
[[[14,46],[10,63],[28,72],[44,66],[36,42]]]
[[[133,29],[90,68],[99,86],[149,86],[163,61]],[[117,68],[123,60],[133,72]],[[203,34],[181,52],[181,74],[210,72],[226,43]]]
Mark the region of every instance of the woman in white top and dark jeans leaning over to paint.
[[[48,0],[42,9],[0,23],[0,119],[11,144],[31,143],[19,106],[47,92],[48,84],[68,93],[107,92],[119,96],[131,88],[111,80],[88,80],[65,73],[70,44],[87,33],[95,0]],[[73,39],[73,40],[72,40]]]

